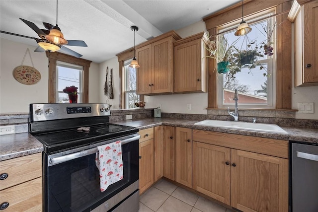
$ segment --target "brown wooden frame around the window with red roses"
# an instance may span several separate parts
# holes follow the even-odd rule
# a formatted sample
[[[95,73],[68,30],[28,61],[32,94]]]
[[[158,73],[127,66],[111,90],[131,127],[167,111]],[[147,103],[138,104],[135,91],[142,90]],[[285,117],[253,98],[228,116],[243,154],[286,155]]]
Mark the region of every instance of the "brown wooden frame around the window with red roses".
[[[74,64],[83,67],[82,73],[82,103],[88,103],[88,82],[89,82],[89,67],[91,61],[76,58],[59,52],[46,52],[46,57],[49,59],[49,95],[48,103],[56,103],[57,100],[57,78],[56,78],[56,65],[57,61]]]

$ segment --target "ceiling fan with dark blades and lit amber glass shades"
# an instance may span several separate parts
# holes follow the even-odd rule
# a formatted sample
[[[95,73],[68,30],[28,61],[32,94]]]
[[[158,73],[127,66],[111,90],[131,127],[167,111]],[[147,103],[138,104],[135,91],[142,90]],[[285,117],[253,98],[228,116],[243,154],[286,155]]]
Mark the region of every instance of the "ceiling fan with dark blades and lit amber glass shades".
[[[86,43],[84,41],[80,40],[66,40],[64,39],[64,35],[61,32],[61,29],[58,27],[58,0],[56,1],[56,26],[53,26],[50,23],[43,22],[43,25],[46,29],[40,29],[37,27],[34,23],[20,18],[26,25],[28,25],[31,29],[33,29],[40,38],[25,36],[25,35],[19,35],[11,32],[5,32],[0,31],[4,34],[9,35],[15,35],[20,36],[24,38],[30,38],[36,40],[39,47],[34,50],[34,52],[55,52],[60,51],[62,53],[72,55],[74,57],[80,58],[82,55],[65,47],[64,45],[68,46],[81,46],[81,47],[87,47]]]

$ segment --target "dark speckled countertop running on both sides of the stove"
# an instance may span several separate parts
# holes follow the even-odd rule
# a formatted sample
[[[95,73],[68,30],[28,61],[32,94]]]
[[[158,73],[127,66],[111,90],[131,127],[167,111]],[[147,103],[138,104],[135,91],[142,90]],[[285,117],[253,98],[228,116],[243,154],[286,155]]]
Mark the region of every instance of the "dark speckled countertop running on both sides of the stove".
[[[262,138],[279,139],[286,141],[303,141],[310,143],[318,143],[318,130],[311,128],[294,128],[282,127],[289,134],[273,134],[273,133],[260,133],[245,130],[233,130],[226,128],[198,126],[194,123],[202,120],[187,120],[187,119],[174,119],[174,118],[146,118],[112,122],[114,124],[126,125],[136,127],[139,130],[156,127],[160,125],[168,125],[175,127],[185,127],[198,130],[208,130],[223,133],[232,133],[245,136],[256,136]],[[43,151],[43,145],[37,141],[29,133],[18,133],[13,135],[0,136],[0,161],[20,157],[28,154],[34,154]]]

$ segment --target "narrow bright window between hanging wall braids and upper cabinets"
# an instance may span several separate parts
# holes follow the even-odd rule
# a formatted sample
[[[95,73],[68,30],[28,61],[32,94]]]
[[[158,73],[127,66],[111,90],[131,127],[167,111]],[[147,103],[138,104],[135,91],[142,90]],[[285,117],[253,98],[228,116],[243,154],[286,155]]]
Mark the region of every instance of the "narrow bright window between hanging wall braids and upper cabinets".
[[[132,60],[124,62],[124,98],[125,109],[135,108],[135,102],[140,101],[140,96],[136,93],[136,70],[129,67]]]

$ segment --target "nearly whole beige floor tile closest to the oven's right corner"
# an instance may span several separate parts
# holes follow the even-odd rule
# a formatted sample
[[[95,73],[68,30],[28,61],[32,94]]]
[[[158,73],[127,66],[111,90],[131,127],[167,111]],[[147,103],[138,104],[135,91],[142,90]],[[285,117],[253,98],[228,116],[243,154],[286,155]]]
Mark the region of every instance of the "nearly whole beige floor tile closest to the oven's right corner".
[[[157,188],[150,188],[142,196],[140,202],[153,211],[157,211],[164,201],[169,197]]]

